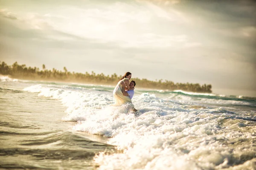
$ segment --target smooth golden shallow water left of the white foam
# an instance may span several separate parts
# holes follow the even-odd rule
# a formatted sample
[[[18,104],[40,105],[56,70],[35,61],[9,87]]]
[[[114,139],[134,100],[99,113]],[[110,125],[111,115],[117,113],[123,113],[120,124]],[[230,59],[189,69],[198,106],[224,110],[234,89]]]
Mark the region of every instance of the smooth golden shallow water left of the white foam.
[[[96,169],[95,154],[114,147],[103,136],[72,130],[76,122],[61,120],[61,102],[21,90],[26,85],[0,84],[0,167]]]

